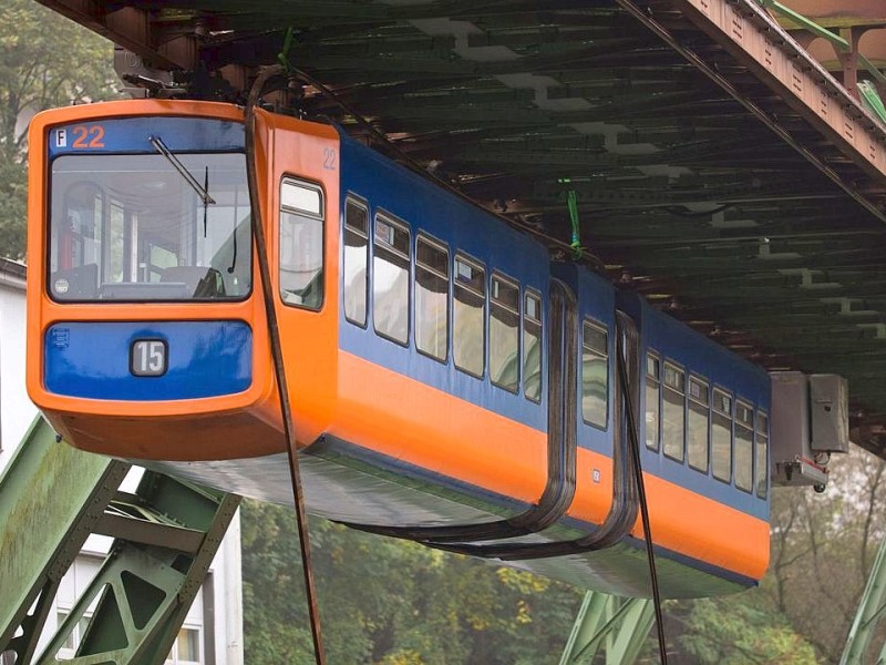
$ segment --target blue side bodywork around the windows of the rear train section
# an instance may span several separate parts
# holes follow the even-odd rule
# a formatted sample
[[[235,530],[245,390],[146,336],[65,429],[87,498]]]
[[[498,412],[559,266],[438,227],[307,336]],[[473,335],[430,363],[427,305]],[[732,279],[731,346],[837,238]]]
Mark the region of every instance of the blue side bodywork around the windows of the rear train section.
[[[708,339],[689,326],[662,314],[635,294],[619,294],[619,308],[637,323],[640,334],[640,368],[646,371],[645,358],[649,350],[664,360],[672,360],[690,375],[700,376],[714,387],[725,389],[735,399],[750,402],[754,411],[771,413],[771,385],[769,375],[741,356]],[[640,391],[640,412],[646,410],[645,391]],[[646,440],[645,419],[640,418],[640,441]],[[643,470],[664,478],[693,492],[731,505],[736,510],[769,521],[769,501],[739,490],[732,483],[717,480],[709,464],[708,473],[667,458],[661,450],[641,446]],[[766,492],[769,495],[769,492]]]

